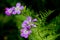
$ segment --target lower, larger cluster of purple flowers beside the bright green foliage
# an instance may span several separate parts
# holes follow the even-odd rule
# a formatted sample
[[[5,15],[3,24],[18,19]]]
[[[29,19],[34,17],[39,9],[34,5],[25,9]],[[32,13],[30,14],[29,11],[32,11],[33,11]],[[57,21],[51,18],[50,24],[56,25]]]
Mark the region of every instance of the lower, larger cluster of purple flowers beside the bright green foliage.
[[[24,38],[28,38],[28,36],[31,34],[31,27],[36,27],[34,22],[37,21],[37,19],[32,19],[30,16],[27,17],[27,19],[22,23],[22,29],[21,29],[21,36]]]

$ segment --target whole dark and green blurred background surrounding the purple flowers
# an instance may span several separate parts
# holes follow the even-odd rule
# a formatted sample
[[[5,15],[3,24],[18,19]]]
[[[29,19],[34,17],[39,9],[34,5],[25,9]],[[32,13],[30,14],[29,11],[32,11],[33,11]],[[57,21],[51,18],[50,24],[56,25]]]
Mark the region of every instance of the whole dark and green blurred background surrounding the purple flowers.
[[[0,40],[60,39],[60,0],[0,0],[0,2]],[[21,14],[6,16],[5,8],[15,6],[17,2],[25,5]],[[20,36],[20,29],[27,16],[37,18],[38,21],[37,27],[31,29],[32,34],[25,39]]]

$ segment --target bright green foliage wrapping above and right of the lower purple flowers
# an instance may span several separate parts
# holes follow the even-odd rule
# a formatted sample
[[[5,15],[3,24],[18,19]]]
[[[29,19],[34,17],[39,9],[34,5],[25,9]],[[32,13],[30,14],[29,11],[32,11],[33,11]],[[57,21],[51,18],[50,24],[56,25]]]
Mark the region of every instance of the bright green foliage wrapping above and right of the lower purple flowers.
[[[21,29],[22,22],[26,19],[27,16],[36,17],[38,21],[35,23],[37,25],[36,28],[32,28],[32,33],[29,35],[29,40],[55,40],[60,34],[56,34],[56,31],[59,27],[57,27],[57,23],[60,23],[60,16],[57,16],[47,25],[45,25],[47,17],[53,13],[54,11],[48,10],[45,12],[41,12],[39,18],[34,15],[34,12],[30,11],[28,8],[24,8],[20,15],[15,16],[15,21],[18,29]]]

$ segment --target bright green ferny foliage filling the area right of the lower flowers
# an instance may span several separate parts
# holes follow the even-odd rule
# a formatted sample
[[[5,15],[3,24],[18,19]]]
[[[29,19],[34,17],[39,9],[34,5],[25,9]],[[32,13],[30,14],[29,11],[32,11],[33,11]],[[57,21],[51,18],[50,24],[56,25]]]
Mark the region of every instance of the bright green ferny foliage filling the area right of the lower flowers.
[[[46,18],[53,11],[48,10],[48,12],[42,12],[41,18],[38,18],[38,25],[36,28],[32,28],[32,34],[29,36],[29,40],[55,40],[56,37],[60,36],[60,34],[56,34],[58,28],[60,29],[60,16],[55,17],[48,25],[43,25],[45,23]],[[58,26],[59,25],[59,26]]]

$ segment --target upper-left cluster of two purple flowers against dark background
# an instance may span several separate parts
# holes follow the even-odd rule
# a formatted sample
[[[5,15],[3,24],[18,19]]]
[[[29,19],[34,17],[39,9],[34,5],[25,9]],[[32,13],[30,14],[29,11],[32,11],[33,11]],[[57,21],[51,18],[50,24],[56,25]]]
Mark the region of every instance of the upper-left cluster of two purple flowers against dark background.
[[[20,3],[17,3],[16,4],[16,7],[11,7],[11,8],[6,8],[5,10],[5,14],[10,16],[11,14],[20,14],[21,13],[21,10],[23,10],[24,7],[21,6]]]

